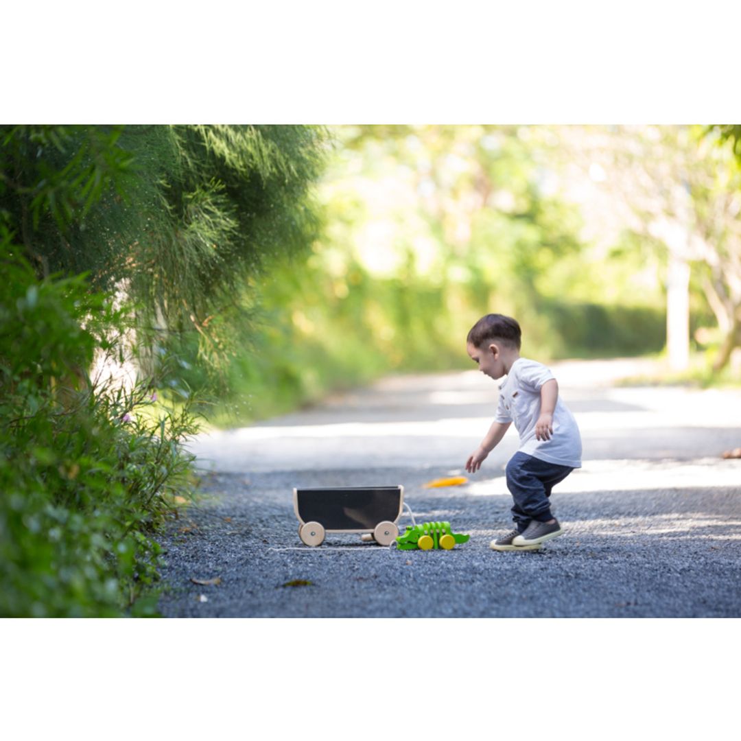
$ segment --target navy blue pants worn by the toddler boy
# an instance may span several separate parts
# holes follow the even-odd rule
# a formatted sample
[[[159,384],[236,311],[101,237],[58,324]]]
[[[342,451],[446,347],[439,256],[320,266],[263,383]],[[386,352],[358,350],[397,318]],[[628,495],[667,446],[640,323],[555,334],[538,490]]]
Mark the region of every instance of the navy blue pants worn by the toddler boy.
[[[551,514],[551,489],[568,476],[573,468],[548,463],[527,453],[515,453],[507,464],[507,488],[514,507],[512,519],[522,533],[531,519],[548,522]]]

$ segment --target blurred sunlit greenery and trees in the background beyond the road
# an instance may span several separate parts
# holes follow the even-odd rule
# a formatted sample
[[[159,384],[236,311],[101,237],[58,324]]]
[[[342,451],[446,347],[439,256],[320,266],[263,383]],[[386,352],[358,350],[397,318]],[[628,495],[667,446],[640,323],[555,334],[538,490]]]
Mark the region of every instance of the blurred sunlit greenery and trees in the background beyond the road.
[[[251,287],[262,329],[231,367],[231,419],[465,367],[488,312],[516,316],[523,353],[545,361],[648,353],[664,379],[740,376],[739,167],[717,130],[344,126],[330,140],[322,235]]]

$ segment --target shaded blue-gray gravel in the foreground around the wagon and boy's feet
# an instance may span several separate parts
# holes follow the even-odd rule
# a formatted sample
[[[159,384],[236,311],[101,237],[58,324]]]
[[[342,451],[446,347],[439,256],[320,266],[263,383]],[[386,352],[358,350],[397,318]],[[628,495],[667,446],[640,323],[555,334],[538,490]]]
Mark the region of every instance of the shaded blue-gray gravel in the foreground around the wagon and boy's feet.
[[[665,462],[663,465],[671,465]],[[674,489],[554,493],[566,533],[533,553],[489,549],[508,502],[428,490],[428,470],[207,476],[210,499],[163,539],[171,617],[739,617],[741,493]],[[471,540],[397,551],[328,534],[299,541],[294,485],[405,483],[417,521],[449,519]],[[402,517],[399,524],[410,522]],[[332,550],[341,548],[342,550]],[[219,585],[190,582],[219,577]],[[305,586],[283,586],[294,580]],[[205,597],[207,601],[202,601]]]

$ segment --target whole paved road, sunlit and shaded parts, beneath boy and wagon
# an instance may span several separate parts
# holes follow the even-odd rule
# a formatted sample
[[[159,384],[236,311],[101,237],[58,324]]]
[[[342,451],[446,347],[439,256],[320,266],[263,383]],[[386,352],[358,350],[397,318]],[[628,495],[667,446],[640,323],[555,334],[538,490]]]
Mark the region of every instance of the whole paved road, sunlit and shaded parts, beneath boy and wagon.
[[[496,384],[476,371],[391,377],[193,441],[204,498],[162,539],[162,614],[740,617],[741,460],[721,456],[741,446],[741,393],[619,385],[644,370],[630,361],[553,368],[584,467],[554,491],[567,532],[542,551],[488,547],[510,526],[503,467],[514,429],[467,485],[423,486],[462,473],[491,422]],[[450,520],[471,540],[450,552],[350,535],[320,548],[299,541],[294,486],[389,484],[405,486],[418,522]]]

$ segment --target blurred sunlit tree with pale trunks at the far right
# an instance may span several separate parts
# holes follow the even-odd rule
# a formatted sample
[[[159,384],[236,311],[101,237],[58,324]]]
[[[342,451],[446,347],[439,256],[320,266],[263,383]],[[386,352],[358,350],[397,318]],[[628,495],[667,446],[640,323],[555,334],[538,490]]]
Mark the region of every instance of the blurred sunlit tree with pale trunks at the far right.
[[[667,339],[675,368],[688,362],[690,266],[696,266],[723,333],[714,362],[720,371],[740,343],[734,322],[741,305],[739,167],[730,149],[714,149],[701,127],[569,126],[557,133],[554,161],[561,158],[566,180],[591,183],[585,212],[605,231],[617,224],[665,247]]]

